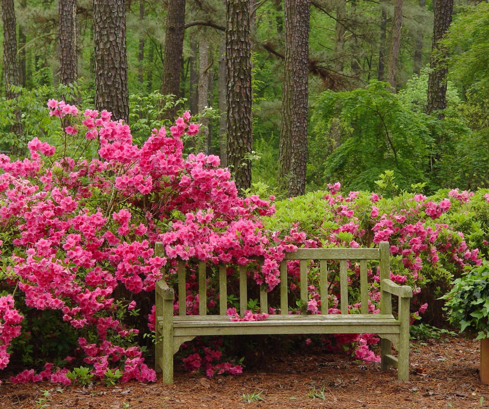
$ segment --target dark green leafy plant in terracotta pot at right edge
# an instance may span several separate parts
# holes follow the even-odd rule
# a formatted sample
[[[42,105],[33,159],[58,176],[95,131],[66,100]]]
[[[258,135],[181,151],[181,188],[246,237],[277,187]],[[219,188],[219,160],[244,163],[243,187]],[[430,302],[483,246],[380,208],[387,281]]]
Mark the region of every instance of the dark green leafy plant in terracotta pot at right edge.
[[[468,270],[453,281],[443,297],[448,321],[461,333],[478,334],[476,340],[488,337],[489,331],[489,262]]]

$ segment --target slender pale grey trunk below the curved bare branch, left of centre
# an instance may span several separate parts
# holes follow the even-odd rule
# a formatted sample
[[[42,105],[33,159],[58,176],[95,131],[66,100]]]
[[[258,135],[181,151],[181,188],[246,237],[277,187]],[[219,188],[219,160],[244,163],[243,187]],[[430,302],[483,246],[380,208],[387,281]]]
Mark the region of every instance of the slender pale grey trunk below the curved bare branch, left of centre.
[[[202,31],[200,33],[199,40],[199,112],[202,112],[205,107],[208,106],[208,90],[209,90],[209,75],[207,70],[209,69],[209,44],[207,43],[207,36]],[[209,121],[207,118],[200,119],[201,128],[199,135],[197,136],[196,149],[197,152],[207,153],[207,138],[209,136],[209,128],[207,127]]]

